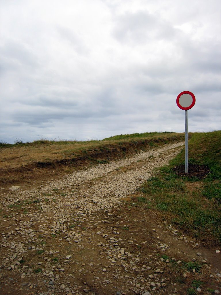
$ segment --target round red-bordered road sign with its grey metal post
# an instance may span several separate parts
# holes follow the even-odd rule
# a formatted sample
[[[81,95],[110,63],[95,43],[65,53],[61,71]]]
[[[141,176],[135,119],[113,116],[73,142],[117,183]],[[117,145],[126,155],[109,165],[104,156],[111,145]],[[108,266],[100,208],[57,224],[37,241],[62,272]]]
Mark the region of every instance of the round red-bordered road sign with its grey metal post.
[[[188,116],[187,110],[192,109],[196,102],[194,94],[183,91],[177,96],[177,106],[185,111],[185,173],[188,173]]]

